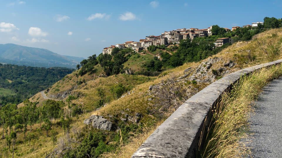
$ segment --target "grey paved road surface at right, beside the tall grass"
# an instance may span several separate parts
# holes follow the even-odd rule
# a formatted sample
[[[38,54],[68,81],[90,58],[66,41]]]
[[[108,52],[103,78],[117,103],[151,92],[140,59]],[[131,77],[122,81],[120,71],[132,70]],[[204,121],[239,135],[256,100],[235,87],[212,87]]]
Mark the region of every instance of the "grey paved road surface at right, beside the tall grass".
[[[251,156],[282,158],[282,78],[263,88],[249,122]]]

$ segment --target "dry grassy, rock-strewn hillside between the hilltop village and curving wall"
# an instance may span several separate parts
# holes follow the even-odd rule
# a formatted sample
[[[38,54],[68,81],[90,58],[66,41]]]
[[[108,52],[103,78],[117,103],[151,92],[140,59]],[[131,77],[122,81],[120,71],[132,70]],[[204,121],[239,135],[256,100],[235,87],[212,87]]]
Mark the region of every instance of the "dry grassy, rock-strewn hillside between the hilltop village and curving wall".
[[[148,67],[148,61],[159,62],[155,56],[165,50],[127,52],[125,57],[128,57],[121,58],[123,68],[117,74],[109,67],[112,58],[101,60],[101,56],[97,59],[93,56],[85,62],[84,68],[66,75],[46,89],[48,97],[64,102],[56,103],[64,112],[60,117],[54,116],[55,121],[53,125],[51,123],[51,129],[58,134],[46,137],[48,130],[45,124],[48,121],[42,123],[42,128],[41,123],[34,122],[29,133],[37,139],[31,139],[31,145],[27,147],[27,144],[24,145],[24,133],[19,130],[18,140],[21,142],[16,145],[15,157],[45,157],[51,152],[57,157],[75,157],[78,154],[86,157],[84,151],[89,151],[93,157],[130,157],[164,119],[202,88],[231,72],[281,58],[281,42],[281,28],[267,30],[250,41],[236,42],[207,59],[185,62],[176,67],[163,65],[161,70]],[[178,49],[182,49],[182,44],[185,43],[180,43]],[[168,54],[174,54],[174,51]],[[154,70],[159,73],[155,76],[130,75],[123,72],[126,67],[135,72]],[[106,75],[105,71],[110,75]],[[40,93],[29,100],[39,102],[38,109],[41,106],[47,108],[50,104]],[[26,106],[29,104],[26,102]],[[118,132],[98,130],[83,124],[92,114],[112,122]],[[66,120],[71,120],[68,126],[64,124]],[[56,141],[53,142],[54,138]],[[7,147],[5,144],[6,141],[1,140],[0,146]],[[9,152],[9,148],[5,151]]]

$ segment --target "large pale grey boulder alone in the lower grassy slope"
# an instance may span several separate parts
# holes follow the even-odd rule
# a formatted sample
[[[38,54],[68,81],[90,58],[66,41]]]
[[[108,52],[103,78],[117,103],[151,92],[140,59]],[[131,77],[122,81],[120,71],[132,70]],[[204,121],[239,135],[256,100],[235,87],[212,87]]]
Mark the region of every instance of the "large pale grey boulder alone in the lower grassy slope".
[[[92,115],[88,119],[85,119],[83,123],[86,125],[92,125],[94,128],[101,130],[112,130],[113,128],[112,122],[99,115]]]

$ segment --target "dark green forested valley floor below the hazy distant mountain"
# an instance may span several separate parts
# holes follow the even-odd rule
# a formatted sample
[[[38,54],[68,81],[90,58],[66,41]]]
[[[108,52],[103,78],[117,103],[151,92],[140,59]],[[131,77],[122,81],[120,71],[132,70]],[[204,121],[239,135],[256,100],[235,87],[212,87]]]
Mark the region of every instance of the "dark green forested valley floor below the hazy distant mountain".
[[[0,95],[0,104],[19,104],[24,99],[47,89],[72,71],[70,68],[38,68],[0,63],[0,87],[16,93],[10,96]]]

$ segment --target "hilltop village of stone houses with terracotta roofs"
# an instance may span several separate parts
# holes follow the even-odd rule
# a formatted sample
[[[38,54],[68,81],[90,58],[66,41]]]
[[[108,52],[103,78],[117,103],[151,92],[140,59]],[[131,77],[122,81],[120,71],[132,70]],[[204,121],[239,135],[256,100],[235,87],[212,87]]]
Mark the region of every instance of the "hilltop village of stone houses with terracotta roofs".
[[[252,25],[244,25],[242,27],[257,27],[258,24],[263,24],[263,22],[254,22]],[[226,32],[234,31],[239,26],[233,26],[232,29],[224,28]],[[182,28],[176,29],[171,31],[164,31],[159,36],[146,36],[145,39],[140,39],[139,42],[135,41],[127,41],[123,44],[115,44],[111,45],[110,47],[106,47],[103,49],[103,54],[111,54],[113,48],[117,47],[119,49],[124,48],[132,48],[135,52],[140,52],[143,49],[147,49],[151,45],[160,46],[160,45],[169,45],[173,43],[179,43],[180,40],[187,40],[190,39],[191,41],[196,37],[207,37],[212,35],[212,26],[205,28],[205,29],[198,29],[198,28]],[[219,38],[216,39],[214,45],[215,47],[221,47],[223,44],[226,43],[233,43],[233,40],[229,37],[226,38]]]

